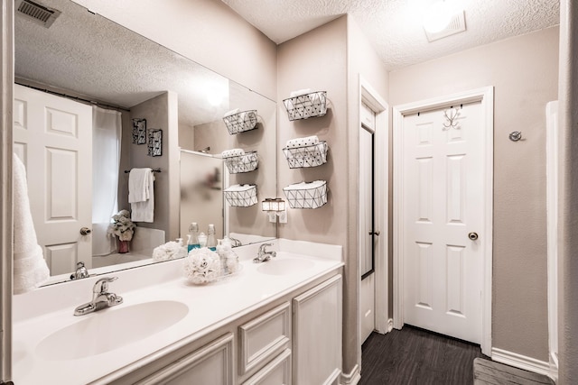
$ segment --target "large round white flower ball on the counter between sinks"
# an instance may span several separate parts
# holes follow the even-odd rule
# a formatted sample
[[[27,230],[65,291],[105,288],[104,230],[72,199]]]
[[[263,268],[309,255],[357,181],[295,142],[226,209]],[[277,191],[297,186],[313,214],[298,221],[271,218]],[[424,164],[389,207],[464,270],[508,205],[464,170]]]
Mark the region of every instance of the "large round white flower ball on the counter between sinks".
[[[219,254],[206,247],[192,249],[182,267],[185,278],[196,284],[209,283],[221,276]]]

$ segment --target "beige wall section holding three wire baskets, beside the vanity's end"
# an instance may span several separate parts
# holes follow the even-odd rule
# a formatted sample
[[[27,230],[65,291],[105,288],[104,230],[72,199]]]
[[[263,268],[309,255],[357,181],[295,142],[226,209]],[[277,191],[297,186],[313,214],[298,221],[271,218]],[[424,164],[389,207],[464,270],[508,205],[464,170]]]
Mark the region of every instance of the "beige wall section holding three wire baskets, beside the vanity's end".
[[[284,197],[283,188],[292,183],[322,179],[329,188],[328,202],[316,209],[287,211],[288,223],[277,225],[280,238],[334,243],[343,246],[346,271],[344,280],[345,315],[343,324],[343,371],[350,372],[357,362],[357,315],[355,254],[350,255],[349,198],[349,134],[347,115],[347,17],[322,25],[291,41],[280,44],[277,50],[278,124],[277,124],[277,188]],[[322,117],[290,122],[282,100],[291,91],[311,88],[327,91],[330,107]],[[310,169],[289,169],[280,149],[289,139],[317,135],[327,141],[327,163]],[[284,197],[285,198],[285,197]],[[351,261],[354,261],[351,263]],[[352,280],[352,281],[350,281]]]

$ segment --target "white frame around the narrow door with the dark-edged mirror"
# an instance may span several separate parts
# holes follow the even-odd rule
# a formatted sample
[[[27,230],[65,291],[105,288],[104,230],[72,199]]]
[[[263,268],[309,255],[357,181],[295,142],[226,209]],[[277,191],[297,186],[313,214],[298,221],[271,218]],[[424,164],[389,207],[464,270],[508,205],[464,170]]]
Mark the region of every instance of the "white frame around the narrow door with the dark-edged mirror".
[[[374,282],[375,282],[375,330],[378,333],[386,334],[391,330],[388,308],[389,308],[389,290],[388,290],[388,175],[389,175],[389,146],[387,130],[389,105],[386,100],[381,97],[369,82],[359,75],[359,105],[358,116],[360,116],[361,103],[368,105],[376,115],[376,126],[374,133],[374,141],[377,148],[382,151],[376,151],[374,154],[374,212],[375,212],[375,227],[381,232],[379,236],[378,246],[375,251],[374,261]],[[359,130],[363,130],[359,120]],[[359,147],[359,144],[358,144]],[[358,210],[359,215],[359,210]],[[359,217],[358,217],[359,221]],[[358,235],[359,236],[359,235]],[[358,252],[361,243],[358,242]],[[361,276],[358,277],[358,293],[361,284]],[[359,313],[359,311],[358,311]],[[359,314],[358,314],[359,317]],[[360,333],[360,319],[358,319],[358,333]]]

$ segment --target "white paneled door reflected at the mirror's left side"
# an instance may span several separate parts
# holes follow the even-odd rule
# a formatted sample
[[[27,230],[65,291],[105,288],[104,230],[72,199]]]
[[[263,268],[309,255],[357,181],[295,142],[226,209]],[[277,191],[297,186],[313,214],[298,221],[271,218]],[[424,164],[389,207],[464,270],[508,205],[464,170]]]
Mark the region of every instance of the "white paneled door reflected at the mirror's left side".
[[[91,267],[92,107],[14,86],[14,152],[23,160],[38,243],[51,275]]]

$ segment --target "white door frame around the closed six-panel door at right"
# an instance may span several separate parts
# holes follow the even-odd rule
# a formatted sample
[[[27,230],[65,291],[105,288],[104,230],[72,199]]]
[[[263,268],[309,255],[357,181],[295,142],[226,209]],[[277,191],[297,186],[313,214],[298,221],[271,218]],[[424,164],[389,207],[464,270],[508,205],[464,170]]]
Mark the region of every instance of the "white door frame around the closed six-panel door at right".
[[[396,105],[393,107],[393,180],[394,180],[394,217],[393,217],[393,318],[394,327],[401,329],[404,325],[404,135],[403,123],[406,115],[418,112],[431,111],[448,105],[460,105],[472,102],[480,102],[482,115],[484,116],[484,143],[483,160],[484,170],[484,218],[483,237],[485,254],[482,255],[483,277],[481,288],[481,351],[491,356],[491,293],[492,293],[492,219],[493,219],[493,141],[494,141],[494,87],[482,87],[470,91],[464,91],[447,96],[433,97],[430,99]]]

